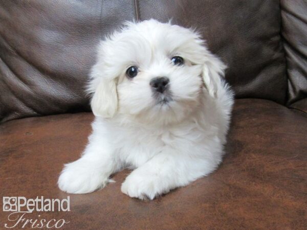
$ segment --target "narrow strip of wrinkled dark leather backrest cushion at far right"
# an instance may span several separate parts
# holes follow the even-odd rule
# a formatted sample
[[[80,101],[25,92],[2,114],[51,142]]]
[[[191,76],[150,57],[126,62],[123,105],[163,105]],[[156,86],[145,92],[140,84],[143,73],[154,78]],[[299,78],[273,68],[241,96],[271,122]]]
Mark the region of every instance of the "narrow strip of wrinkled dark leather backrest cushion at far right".
[[[307,112],[307,2],[281,0],[280,5],[289,76],[287,104]]]

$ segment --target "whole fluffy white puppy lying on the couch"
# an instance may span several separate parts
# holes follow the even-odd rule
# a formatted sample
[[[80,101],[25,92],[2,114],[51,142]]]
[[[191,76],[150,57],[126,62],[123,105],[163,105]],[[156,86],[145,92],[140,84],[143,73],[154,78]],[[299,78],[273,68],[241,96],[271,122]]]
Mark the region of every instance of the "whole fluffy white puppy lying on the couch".
[[[90,193],[131,168],[121,191],[153,199],[211,173],[233,104],[225,67],[191,29],[127,22],[99,45],[89,84],[93,133],[59,188]]]

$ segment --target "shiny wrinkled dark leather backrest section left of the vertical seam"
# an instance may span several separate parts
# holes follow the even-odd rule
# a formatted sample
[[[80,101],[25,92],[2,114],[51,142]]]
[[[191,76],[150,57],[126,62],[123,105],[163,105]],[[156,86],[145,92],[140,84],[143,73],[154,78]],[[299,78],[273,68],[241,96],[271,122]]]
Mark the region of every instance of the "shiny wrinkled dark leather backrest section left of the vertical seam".
[[[133,0],[0,1],[0,121],[90,111],[98,42],[134,18]]]

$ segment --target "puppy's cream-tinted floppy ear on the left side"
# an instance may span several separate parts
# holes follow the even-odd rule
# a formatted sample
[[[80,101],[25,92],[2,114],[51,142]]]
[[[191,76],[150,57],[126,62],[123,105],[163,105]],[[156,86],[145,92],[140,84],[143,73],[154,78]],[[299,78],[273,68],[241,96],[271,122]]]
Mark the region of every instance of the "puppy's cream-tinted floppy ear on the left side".
[[[117,111],[118,99],[115,79],[100,79],[91,100],[96,117],[112,118]]]

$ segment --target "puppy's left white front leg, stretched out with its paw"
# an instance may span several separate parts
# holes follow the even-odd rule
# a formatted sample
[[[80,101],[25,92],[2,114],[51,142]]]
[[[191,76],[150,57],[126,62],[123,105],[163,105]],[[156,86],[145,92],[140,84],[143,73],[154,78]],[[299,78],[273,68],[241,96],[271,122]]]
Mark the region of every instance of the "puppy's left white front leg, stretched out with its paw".
[[[113,149],[94,130],[81,158],[64,166],[58,186],[68,193],[90,193],[111,182],[109,176],[118,169]]]

